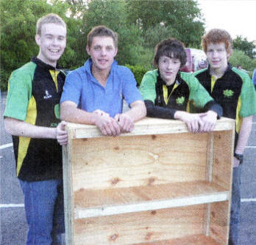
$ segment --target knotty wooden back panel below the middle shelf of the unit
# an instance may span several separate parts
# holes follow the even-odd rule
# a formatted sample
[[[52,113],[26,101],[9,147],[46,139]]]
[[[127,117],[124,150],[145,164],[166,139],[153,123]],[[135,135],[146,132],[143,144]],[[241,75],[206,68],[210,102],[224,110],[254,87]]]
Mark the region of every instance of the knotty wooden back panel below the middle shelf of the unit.
[[[74,221],[75,245],[126,245],[202,234],[203,205]]]

